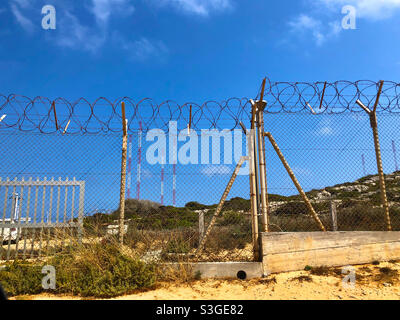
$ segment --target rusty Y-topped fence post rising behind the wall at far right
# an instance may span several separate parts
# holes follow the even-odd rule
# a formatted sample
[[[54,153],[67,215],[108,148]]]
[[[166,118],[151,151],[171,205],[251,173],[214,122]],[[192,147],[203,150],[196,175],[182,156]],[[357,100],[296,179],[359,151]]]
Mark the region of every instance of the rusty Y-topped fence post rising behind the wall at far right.
[[[388,203],[387,195],[386,195],[385,175],[383,173],[381,146],[379,143],[378,121],[376,118],[376,108],[378,107],[378,104],[379,104],[379,98],[382,93],[383,84],[384,84],[384,82],[380,81],[379,90],[378,90],[378,94],[376,96],[373,110],[370,110],[369,108],[367,108],[360,100],[357,100],[356,103],[369,115],[372,133],[374,136],[376,164],[378,167],[379,185],[380,185],[380,189],[381,189],[381,203],[382,203],[383,210],[385,213],[387,229],[388,229],[388,231],[392,231],[392,224],[390,221],[390,212],[389,212],[389,203]]]

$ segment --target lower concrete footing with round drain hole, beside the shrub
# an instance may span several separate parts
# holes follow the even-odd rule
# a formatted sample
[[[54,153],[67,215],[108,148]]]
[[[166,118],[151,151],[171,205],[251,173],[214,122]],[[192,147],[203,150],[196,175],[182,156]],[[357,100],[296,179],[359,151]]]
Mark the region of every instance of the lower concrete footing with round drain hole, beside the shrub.
[[[165,272],[168,272],[169,268],[184,270],[192,275],[200,272],[202,279],[237,279],[239,271],[245,272],[246,279],[261,278],[264,274],[261,262],[166,263],[164,268]]]

